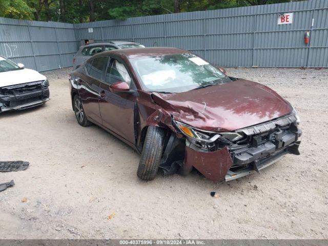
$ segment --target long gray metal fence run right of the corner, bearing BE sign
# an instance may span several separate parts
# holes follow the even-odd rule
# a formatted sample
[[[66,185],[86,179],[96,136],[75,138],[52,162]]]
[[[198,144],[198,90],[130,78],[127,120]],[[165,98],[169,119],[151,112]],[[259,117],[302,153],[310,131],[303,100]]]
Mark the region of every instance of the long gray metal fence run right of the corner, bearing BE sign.
[[[293,24],[277,25],[279,14],[288,12]],[[77,39],[178,47],[219,66],[328,67],[328,0],[106,20],[75,29]]]

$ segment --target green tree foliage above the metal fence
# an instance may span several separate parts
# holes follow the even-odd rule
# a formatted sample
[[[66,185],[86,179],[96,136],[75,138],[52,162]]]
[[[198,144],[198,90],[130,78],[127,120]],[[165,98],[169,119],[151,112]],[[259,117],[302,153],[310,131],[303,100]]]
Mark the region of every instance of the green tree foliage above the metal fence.
[[[297,1],[303,0],[0,0],[0,16],[83,23]]]

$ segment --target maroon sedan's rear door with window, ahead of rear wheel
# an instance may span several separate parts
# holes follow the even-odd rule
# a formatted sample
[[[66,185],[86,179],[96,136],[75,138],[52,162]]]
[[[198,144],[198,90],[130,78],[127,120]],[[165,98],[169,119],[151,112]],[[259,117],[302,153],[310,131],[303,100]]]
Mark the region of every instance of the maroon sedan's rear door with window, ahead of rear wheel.
[[[108,56],[100,56],[89,60],[86,65],[86,77],[80,80],[78,87],[78,93],[87,117],[99,124],[102,122],[99,110],[99,90],[101,80],[105,78],[108,59]]]

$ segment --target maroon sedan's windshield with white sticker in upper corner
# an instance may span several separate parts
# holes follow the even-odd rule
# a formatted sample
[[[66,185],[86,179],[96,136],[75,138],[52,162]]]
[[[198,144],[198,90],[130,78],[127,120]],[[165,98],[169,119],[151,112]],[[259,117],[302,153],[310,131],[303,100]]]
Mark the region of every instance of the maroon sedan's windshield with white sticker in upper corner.
[[[179,93],[231,81],[207,61],[190,53],[138,57],[130,61],[142,87],[148,91]]]

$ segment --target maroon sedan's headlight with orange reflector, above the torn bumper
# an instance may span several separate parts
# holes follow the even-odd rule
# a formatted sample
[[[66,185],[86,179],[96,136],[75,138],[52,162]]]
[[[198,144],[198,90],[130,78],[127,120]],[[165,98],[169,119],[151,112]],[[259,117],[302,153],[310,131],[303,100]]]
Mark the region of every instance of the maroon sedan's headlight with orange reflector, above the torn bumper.
[[[220,135],[214,132],[205,132],[190,127],[179,121],[174,121],[175,126],[186,136],[196,141],[214,142]]]

